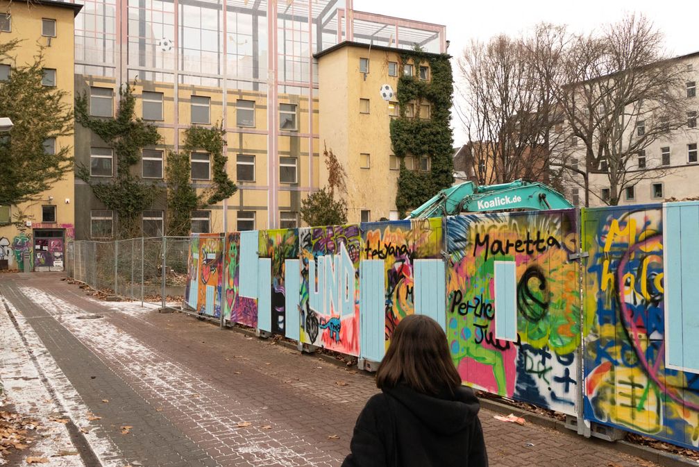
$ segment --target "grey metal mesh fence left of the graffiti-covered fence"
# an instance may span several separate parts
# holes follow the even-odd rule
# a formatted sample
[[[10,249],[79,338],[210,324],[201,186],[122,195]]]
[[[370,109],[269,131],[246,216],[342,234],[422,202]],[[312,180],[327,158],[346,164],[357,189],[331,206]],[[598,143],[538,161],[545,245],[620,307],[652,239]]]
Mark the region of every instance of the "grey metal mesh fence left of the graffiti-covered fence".
[[[69,245],[69,277],[108,295],[183,309],[189,237],[80,240]]]

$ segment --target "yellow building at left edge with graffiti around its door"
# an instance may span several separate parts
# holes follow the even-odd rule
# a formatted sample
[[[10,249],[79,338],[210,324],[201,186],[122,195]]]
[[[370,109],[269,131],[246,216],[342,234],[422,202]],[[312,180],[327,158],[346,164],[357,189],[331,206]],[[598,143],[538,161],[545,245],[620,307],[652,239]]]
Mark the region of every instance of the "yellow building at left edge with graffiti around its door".
[[[62,1],[1,1],[0,43],[21,42],[10,52],[14,63],[10,57],[0,57],[0,80],[11,78],[15,64],[33,64],[43,49],[42,85],[62,89],[72,106],[73,20],[80,8]],[[73,148],[73,137],[50,138],[44,147],[47,151]],[[66,243],[74,238],[74,201],[69,171],[34,201],[0,206],[0,269],[24,271],[26,262],[27,270],[63,271]],[[21,222],[20,227],[15,222]]]

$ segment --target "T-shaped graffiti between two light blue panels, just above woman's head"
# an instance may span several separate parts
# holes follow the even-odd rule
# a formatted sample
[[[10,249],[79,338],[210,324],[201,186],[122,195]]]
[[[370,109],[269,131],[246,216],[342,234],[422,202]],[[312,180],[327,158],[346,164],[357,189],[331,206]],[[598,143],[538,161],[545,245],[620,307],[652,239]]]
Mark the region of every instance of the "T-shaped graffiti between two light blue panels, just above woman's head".
[[[403,317],[415,312],[415,259],[440,258],[442,220],[417,219],[361,224],[362,259],[383,259],[386,348]]]

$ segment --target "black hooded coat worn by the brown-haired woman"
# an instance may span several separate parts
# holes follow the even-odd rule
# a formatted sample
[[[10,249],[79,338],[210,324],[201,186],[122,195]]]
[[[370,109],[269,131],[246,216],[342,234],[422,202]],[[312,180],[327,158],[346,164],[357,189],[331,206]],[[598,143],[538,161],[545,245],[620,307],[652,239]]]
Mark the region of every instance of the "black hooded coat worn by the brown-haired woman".
[[[441,397],[384,389],[359,414],[342,467],[487,467],[479,408],[468,387]]]

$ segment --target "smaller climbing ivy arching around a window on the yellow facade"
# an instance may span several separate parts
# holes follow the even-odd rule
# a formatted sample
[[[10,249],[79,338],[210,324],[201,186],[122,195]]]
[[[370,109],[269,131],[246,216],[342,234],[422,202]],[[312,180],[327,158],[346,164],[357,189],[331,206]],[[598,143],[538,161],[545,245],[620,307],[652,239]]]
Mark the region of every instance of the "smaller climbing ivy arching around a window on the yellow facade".
[[[185,130],[185,144],[182,152],[169,152],[165,169],[165,184],[168,207],[168,235],[189,234],[190,218],[193,210],[218,203],[237,191],[238,187],[226,173],[224,155],[224,135],[222,127],[190,127]],[[196,192],[189,182],[192,173],[192,151],[202,150],[211,156],[212,187]]]

